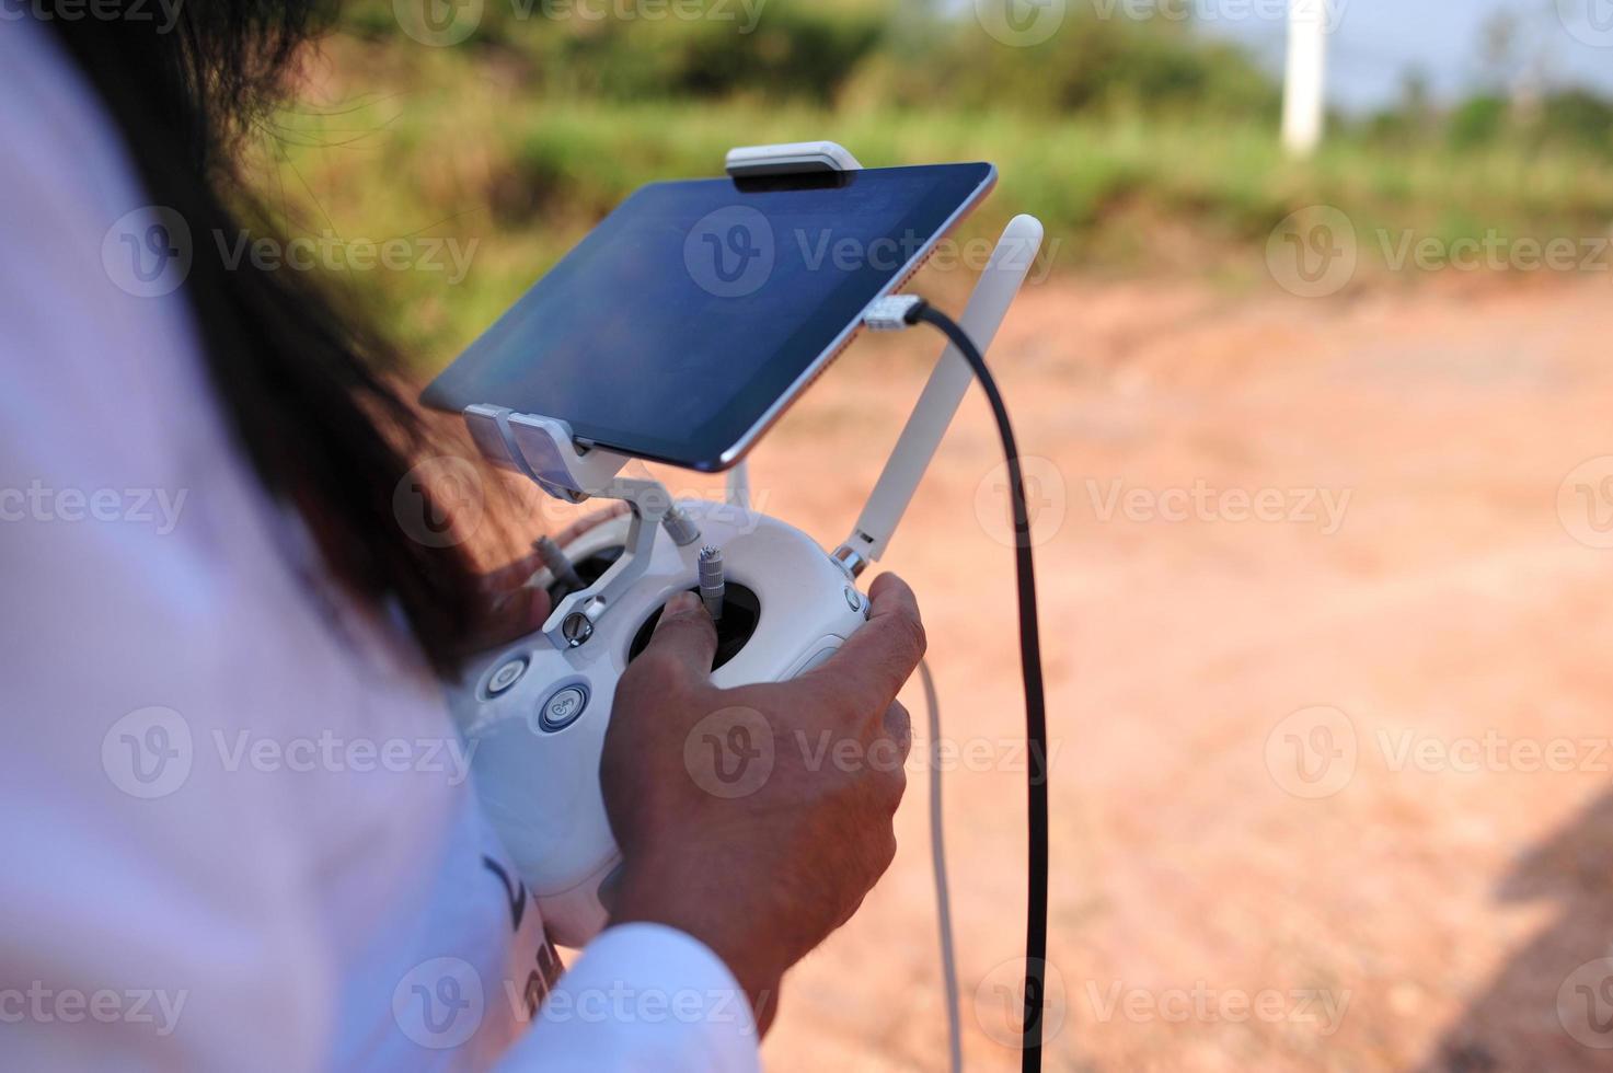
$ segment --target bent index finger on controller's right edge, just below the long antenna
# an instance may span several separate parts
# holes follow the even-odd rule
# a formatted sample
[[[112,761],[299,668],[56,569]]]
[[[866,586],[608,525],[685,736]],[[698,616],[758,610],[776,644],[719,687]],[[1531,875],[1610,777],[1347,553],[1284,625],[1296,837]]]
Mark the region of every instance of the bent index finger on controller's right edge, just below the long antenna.
[[[810,678],[876,720],[924,658],[924,621],[913,589],[895,574],[876,578],[868,599],[868,621]]]

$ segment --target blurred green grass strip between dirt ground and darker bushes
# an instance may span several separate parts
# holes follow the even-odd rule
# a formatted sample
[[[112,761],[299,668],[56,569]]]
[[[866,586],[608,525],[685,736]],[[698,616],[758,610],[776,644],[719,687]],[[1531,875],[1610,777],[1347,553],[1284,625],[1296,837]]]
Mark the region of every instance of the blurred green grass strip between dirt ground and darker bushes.
[[[1057,244],[1055,269],[1069,273],[1255,279],[1271,229],[1318,203],[1345,211],[1363,236],[1578,237],[1607,234],[1613,221],[1613,168],[1561,148],[1431,140],[1389,150],[1345,136],[1300,165],[1253,121],[579,102],[455,50],[339,42],[329,63],[366,82],[329,84],[340,105],[279,116],[265,189],[290,232],[476,244],[456,286],[432,271],[352,273],[361,299],[427,365],[471,339],[632,189],[718,174],[739,142],[832,137],[871,166],[990,160],[1002,181],[968,234],[1034,213]],[[1363,242],[1363,253],[1376,257],[1378,242]]]

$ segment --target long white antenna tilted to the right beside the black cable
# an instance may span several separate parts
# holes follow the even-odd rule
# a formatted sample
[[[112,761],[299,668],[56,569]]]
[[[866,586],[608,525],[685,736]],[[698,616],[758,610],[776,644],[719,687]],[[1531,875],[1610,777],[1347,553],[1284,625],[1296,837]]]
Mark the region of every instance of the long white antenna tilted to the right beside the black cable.
[[[1031,265],[1036,263],[1040,248],[1042,221],[1036,216],[1015,216],[1008,221],[1002,239],[997,240],[997,248],[992,250],[992,257],[986,263],[986,271],[981,273],[981,279],[974,286],[969,305],[958,318],[958,324],[981,349],[981,353],[986,353],[992,345],[997,328],[1008,315],[1008,307],[1019,294],[1019,286],[1029,274]],[[890,460],[886,461],[886,471],[879,474],[879,482],[868,495],[863,516],[857,520],[852,536],[834,553],[853,574],[860,574],[868,563],[884,553],[890,534],[895,532],[902,515],[907,513],[913,492],[918,491],[918,482],[924,476],[924,470],[929,468],[929,460],[936,455],[940,439],[947,434],[947,426],[952,424],[952,415],[958,411],[958,403],[963,402],[971,382],[974,382],[974,371],[969,363],[965,361],[957,347],[948,345],[936,363],[929,382],[924,384],[924,394],[918,397],[913,415],[908,418],[907,428],[902,429],[902,437],[897,439]]]

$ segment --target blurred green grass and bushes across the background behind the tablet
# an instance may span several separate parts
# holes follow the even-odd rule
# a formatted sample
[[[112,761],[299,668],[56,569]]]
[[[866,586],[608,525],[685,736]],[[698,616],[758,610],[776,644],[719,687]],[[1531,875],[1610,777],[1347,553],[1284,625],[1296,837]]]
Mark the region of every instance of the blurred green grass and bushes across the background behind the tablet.
[[[873,166],[992,160],[1000,189],[968,234],[1036,213],[1060,269],[1255,279],[1271,229],[1315,203],[1447,240],[1608,232],[1607,100],[1439,108],[1413,79],[1298,163],[1248,55],[1124,6],[1073,0],[1048,40],[1008,47],[968,0],[484,0],[474,34],[429,47],[392,0],[356,0],[266,140],[269,197],[300,234],[476,244],[458,286],[358,284],[432,363],[632,189],[718,174],[747,142],[832,137]]]

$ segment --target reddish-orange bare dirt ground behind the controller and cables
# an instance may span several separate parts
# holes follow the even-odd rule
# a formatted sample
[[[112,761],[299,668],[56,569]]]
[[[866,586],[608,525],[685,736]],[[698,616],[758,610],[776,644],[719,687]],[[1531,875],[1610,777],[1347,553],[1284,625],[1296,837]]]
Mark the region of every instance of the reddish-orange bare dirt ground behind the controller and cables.
[[[1048,1068],[1608,1068],[1613,461],[1569,474],[1613,455],[1610,336],[1605,281],[1026,295],[995,365],[1045,460]],[[853,349],[756,452],[763,507],[837,541],[929,353]],[[971,400],[884,563],[926,607],[979,1070],[1018,1068],[1023,928],[997,457]],[[923,779],[771,1070],[944,1068]]]

